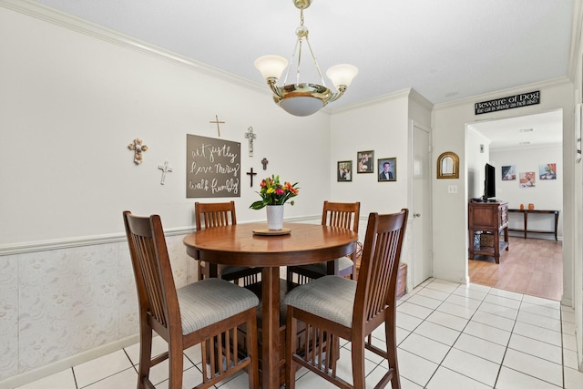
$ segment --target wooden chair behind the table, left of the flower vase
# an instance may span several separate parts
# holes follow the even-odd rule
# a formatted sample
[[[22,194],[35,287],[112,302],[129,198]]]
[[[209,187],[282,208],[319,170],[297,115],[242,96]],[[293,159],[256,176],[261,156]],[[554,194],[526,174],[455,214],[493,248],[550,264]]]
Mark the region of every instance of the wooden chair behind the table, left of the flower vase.
[[[237,224],[235,201],[214,203],[197,201],[194,203],[194,214],[197,230]],[[204,261],[199,261],[199,280],[209,278],[209,274],[209,266]],[[218,265],[218,276],[235,283],[242,280],[243,285],[248,286],[261,280],[261,268]]]

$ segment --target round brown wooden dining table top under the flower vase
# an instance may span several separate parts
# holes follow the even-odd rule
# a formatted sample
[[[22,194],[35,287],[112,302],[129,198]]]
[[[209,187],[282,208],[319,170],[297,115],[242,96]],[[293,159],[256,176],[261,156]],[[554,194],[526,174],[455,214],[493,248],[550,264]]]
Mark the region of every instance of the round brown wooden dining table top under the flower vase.
[[[290,233],[258,235],[265,223],[235,224],[199,230],[184,237],[189,256],[210,263],[240,266],[292,266],[350,255],[358,234],[338,227],[284,223]]]

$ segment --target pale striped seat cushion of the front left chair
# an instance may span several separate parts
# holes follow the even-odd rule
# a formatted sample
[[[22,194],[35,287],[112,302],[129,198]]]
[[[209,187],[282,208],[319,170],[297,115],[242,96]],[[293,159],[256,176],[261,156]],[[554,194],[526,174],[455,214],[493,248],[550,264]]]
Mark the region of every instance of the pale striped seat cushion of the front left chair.
[[[259,304],[252,292],[217,278],[192,282],[177,293],[184,335]]]

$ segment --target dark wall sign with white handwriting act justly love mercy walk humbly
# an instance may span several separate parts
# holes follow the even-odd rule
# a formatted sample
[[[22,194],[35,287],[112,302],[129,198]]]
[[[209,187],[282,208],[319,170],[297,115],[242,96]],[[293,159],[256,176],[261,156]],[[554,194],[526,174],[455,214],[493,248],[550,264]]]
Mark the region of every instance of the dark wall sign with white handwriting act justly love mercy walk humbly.
[[[186,136],[186,197],[240,197],[240,143]]]

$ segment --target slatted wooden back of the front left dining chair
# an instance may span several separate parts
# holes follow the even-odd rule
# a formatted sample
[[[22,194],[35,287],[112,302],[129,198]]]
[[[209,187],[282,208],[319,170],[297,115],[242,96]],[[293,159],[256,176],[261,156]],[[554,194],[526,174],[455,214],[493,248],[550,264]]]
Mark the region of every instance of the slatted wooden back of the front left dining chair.
[[[126,210],[124,223],[138,289],[139,310],[142,314],[150,314],[168,329],[173,320],[169,312],[179,313],[179,305],[159,215],[134,216]]]

